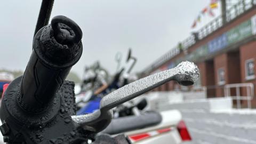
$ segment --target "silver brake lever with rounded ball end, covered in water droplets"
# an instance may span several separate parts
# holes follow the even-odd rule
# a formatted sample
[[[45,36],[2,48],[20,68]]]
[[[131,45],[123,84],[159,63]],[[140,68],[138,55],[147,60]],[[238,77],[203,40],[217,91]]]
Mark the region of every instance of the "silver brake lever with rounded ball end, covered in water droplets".
[[[112,108],[121,105],[139,95],[146,93],[157,86],[169,81],[177,81],[180,85],[193,85],[199,77],[199,70],[193,62],[181,62],[177,67],[165,70],[111,92],[100,101],[100,109],[91,114],[72,116],[74,122],[84,129],[100,132],[105,129],[113,117]]]

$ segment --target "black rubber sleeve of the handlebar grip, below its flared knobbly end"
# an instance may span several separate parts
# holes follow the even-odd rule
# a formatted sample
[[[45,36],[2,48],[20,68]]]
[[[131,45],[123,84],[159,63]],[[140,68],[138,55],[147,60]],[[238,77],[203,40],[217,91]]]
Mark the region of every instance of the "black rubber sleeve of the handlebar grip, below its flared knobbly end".
[[[33,50],[21,82],[21,99],[23,109],[33,113],[47,107],[53,95],[60,89],[71,67],[54,69],[45,66]]]

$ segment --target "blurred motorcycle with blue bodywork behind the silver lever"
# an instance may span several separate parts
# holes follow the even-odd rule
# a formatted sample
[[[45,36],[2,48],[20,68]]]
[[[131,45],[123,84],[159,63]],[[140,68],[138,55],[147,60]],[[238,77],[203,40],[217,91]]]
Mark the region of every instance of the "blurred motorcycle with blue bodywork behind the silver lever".
[[[116,72],[116,74],[113,77],[113,80],[109,84],[102,83],[106,82],[106,80],[103,79],[103,77],[101,76],[100,70],[94,70],[94,78],[91,78],[94,79],[92,83],[95,83],[95,80],[99,79],[97,78],[99,76],[102,80],[98,80],[98,86],[96,86],[98,89],[95,89],[95,87],[91,88],[95,90],[94,92],[93,90],[89,90],[76,95],[76,103],[78,108],[77,115],[92,113],[94,110],[99,109],[100,100],[102,99],[102,97],[104,97],[110,92],[113,92],[114,90],[119,89],[119,87],[126,85],[129,81],[131,70],[136,62],[137,59],[135,57],[132,57],[131,49],[129,49],[125,65]],[[87,83],[87,85],[94,84]]]

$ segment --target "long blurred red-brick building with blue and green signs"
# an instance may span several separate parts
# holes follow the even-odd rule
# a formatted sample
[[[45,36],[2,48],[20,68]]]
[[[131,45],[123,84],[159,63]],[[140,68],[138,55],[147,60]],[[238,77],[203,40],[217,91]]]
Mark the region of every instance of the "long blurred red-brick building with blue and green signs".
[[[239,8],[238,8],[239,7]],[[180,46],[182,45],[182,46]],[[223,97],[227,84],[256,84],[256,2],[237,3],[196,34],[191,35],[171,51],[143,70],[142,75],[173,68],[181,61],[194,61],[201,71],[196,86],[204,86],[207,97]],[[175,82],[154,91],[180,89]],[[246,95],[244,88],[239,88]],[[256,89],[254,88],[254,93]],[[231,91],[235,93],[235,91]],[[256,106],[256,97],[252,100]]]

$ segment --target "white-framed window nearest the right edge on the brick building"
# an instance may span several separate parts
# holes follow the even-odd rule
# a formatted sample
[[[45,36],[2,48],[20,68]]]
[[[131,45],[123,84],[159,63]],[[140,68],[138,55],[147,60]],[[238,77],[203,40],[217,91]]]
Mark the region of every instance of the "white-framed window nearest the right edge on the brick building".
[[[255,78],[254,59],[249,59],[245,61],[245,79],[250,80],[253,78]]]

